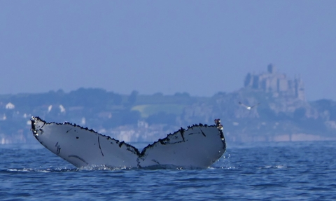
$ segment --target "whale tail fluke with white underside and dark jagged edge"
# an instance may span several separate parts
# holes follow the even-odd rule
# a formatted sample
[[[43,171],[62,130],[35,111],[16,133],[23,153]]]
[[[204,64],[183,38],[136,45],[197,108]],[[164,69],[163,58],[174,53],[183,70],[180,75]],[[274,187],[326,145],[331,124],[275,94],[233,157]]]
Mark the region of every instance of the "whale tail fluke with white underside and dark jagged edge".
[[[76,167],[207,168],[221,158],[226,149],[223,128],[219,120],[215,121],[217,125],[181,128],[141,152],[124,141],[71,123],[46,123],[32,117],[31,130],[45,148]]]

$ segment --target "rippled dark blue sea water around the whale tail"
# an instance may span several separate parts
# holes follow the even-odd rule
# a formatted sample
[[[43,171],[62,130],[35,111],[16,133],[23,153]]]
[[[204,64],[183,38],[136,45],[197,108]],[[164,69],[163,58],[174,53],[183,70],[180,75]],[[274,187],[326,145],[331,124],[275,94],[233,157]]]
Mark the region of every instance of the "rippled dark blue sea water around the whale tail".
[[[77,169],[0,145],[0,200],[336,200],[335,156],[336,141],[228,143],[208,169]]]

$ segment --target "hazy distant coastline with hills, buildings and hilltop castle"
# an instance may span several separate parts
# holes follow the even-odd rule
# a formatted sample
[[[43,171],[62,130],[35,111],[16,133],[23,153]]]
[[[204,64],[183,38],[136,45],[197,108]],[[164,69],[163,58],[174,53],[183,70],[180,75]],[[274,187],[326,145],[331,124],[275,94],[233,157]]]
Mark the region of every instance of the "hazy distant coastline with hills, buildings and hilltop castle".
[[[262,74],[247,73],[244,87],[212,97],[130,95],[79,88],[39,94],[0,95],[0,144],[30,143],[31,116],[68,121],[121,141],[156,141],[193,124],[221,118],[228,141],[336,140],[336,102],[307,102],[301,78],[290,79],[272,64]],[[246,106],[255,106],[246,109]]]

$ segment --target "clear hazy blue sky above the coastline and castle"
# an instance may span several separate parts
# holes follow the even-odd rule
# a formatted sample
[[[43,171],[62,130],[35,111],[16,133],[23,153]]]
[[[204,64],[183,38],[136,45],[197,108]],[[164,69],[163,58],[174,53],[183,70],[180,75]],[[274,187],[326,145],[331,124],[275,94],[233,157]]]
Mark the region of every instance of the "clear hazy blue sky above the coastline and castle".
[[[0,94],[212,96],[269,63],[336,100],[336,1],[0,1]]]

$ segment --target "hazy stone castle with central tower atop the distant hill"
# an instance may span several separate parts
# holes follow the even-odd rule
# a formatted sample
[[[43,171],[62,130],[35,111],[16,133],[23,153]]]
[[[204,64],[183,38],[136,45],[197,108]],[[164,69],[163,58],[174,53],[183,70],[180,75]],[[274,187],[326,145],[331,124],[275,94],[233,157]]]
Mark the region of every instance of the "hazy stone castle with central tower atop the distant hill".
[[[286,74],[276,72],[276,67],[273,64],[267,66],[267,72],[262,74],[246,75],[244,81],[245,88],[255,90],[263,90],[265,92],[272,92],[274,97],[295,97],[304,100],[304,83],[301,78],[294,80],[288,79]]]

